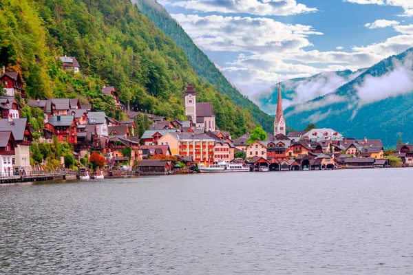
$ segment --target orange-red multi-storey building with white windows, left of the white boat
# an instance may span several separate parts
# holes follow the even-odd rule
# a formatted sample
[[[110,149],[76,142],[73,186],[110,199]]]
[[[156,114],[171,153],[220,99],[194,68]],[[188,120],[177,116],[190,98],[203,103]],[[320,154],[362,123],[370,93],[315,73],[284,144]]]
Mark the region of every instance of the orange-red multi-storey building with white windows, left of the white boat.
[[[210,163],[214,159],[215,140],[204,133],[179,135],[179,155],[192,157],[197,163]]]

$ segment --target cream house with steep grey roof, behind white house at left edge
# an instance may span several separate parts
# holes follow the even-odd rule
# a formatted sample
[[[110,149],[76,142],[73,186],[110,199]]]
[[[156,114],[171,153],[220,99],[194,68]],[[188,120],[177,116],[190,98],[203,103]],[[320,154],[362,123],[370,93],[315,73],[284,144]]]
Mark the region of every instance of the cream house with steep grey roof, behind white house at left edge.
[[[32,145],[32,132],[30,124],[26,118],[12,118],[8,120],[0,120],[0,131],[12,131],[17,147],[12,155],[12,165],[16,170],[32,170],[30,166],[30,145]]]

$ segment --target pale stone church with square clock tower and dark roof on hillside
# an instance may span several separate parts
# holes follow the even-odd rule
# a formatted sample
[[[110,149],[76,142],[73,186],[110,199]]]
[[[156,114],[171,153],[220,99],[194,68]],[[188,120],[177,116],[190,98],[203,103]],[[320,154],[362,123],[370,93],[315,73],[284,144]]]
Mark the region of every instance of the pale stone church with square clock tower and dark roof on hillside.
[[[189,83],[185,92],[185,115],[197,127],[204,127],[205,131],[215,131],[215,115],[211,102],[196,102],[196,91]]]

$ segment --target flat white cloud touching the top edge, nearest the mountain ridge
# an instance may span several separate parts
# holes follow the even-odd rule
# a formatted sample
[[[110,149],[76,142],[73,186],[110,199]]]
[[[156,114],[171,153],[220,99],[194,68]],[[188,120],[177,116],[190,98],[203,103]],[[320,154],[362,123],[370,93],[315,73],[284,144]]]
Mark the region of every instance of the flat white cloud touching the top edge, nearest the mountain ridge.
[[[317,11],[317,8],[308,8],[295,0],[186,0],[169,4],[200,12],[247,13],[261,16],[286,16]]]

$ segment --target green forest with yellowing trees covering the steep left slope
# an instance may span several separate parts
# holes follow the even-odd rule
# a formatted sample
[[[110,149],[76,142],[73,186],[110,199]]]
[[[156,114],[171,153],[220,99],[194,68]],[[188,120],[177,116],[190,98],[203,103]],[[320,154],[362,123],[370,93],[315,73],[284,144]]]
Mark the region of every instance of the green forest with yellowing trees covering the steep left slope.
[[[63,71],[64,54],[76,57],[81,74]],[[103,98],[103,85],[115,86],[125,105],[184,120],[192,82],[221,130],[237,137],[259,122],[252,102],[238,105],[224,78],[214,86],[198,77],[184,50],[129,0],[0,1],[0,65],[21,73],[30,98],[80,98],[115,118],[124,114]]]

